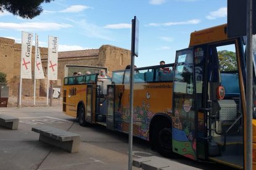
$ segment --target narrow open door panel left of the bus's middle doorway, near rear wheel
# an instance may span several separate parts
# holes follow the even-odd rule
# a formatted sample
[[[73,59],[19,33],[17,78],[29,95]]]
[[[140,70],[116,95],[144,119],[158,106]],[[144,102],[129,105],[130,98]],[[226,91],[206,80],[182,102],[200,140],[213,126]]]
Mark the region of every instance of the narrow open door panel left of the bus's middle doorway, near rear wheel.
[[[96,85],[87,85],[85,121],[95,123]]]

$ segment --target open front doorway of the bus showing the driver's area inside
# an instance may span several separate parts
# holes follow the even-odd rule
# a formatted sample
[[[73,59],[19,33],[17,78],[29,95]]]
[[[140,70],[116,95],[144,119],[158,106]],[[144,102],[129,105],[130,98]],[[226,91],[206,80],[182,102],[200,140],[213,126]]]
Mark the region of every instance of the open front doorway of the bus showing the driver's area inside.
[[[245,113],[242,41],[207,46],[208,159],[235,168],[244,165],[243,115]]]

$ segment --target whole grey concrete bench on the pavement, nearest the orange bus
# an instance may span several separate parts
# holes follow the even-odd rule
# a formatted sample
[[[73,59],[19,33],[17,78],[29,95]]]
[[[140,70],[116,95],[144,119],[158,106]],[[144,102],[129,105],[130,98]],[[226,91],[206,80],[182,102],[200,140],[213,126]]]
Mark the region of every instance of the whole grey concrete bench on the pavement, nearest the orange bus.
[[[69,153],[79,152],[80,135],[49,126],[32,127],[32,131],[40,134],[39,140]]]

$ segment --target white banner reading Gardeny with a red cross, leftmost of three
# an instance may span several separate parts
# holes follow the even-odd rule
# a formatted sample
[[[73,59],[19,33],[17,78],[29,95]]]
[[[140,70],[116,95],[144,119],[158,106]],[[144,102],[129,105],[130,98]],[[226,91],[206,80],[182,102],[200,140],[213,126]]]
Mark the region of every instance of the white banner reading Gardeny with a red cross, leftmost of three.
[[[21,78],[32,79],[31,55],[33,34],[22,31]]]

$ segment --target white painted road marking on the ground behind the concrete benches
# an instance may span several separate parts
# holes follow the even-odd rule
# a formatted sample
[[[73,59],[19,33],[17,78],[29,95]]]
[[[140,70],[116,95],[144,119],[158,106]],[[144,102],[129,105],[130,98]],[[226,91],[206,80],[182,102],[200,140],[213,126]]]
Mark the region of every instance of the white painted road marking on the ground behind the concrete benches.
[[[19,119],[32,119],[32,120],[20,120],[20,123],[25,124],[51,124],[51,123],[66,123],[70,122],[65,119],[53,118],[50,116],[39,116],[39,117],[26,117]]]

